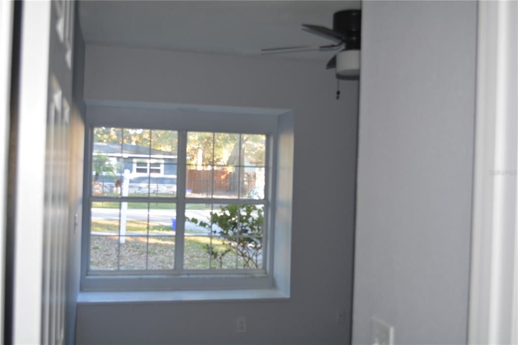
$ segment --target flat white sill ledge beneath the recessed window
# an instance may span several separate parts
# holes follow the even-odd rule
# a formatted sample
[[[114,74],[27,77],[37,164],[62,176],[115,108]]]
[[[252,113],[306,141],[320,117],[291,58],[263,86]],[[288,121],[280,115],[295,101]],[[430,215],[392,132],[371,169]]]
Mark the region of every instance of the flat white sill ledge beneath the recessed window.
[[[80,292],[78,305],[140,304],[195,301],[288,300],[279,289],[192,290],[192,291],[88,291]]]

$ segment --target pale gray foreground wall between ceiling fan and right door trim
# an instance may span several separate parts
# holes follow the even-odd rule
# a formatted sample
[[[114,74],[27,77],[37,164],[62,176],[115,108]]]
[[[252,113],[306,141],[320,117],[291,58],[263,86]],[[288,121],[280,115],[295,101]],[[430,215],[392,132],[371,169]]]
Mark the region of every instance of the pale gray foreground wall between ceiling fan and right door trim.
[[[476,2],[364,2],[353,342],[466,343]]]

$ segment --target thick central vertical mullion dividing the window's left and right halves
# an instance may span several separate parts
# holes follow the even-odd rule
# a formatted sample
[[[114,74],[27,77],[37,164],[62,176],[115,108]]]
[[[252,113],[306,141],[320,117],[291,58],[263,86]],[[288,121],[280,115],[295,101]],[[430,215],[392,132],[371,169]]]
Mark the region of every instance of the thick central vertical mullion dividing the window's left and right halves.
[[[175,233],[175,270],[183,271],[185,245],[185,175],[187,155],[187,132],[178,132],[178,160],[176,178],[176,233]]]

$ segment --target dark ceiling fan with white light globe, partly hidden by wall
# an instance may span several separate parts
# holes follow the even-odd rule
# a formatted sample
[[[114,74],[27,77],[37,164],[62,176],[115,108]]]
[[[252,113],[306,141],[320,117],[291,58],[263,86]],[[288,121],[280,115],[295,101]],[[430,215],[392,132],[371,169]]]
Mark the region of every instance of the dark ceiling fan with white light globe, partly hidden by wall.
[[[320,25],[302,24],[303,30],[332,40],[333,44],[318,46],[292,46],[261,49],[263,54],[291,53],[308,50],[338,50],[326,68],[335,68],[338,79],[355,79],[359,75],[359,49],[361,41],[361,10],[343,10],[333,15],[333,29]]]

